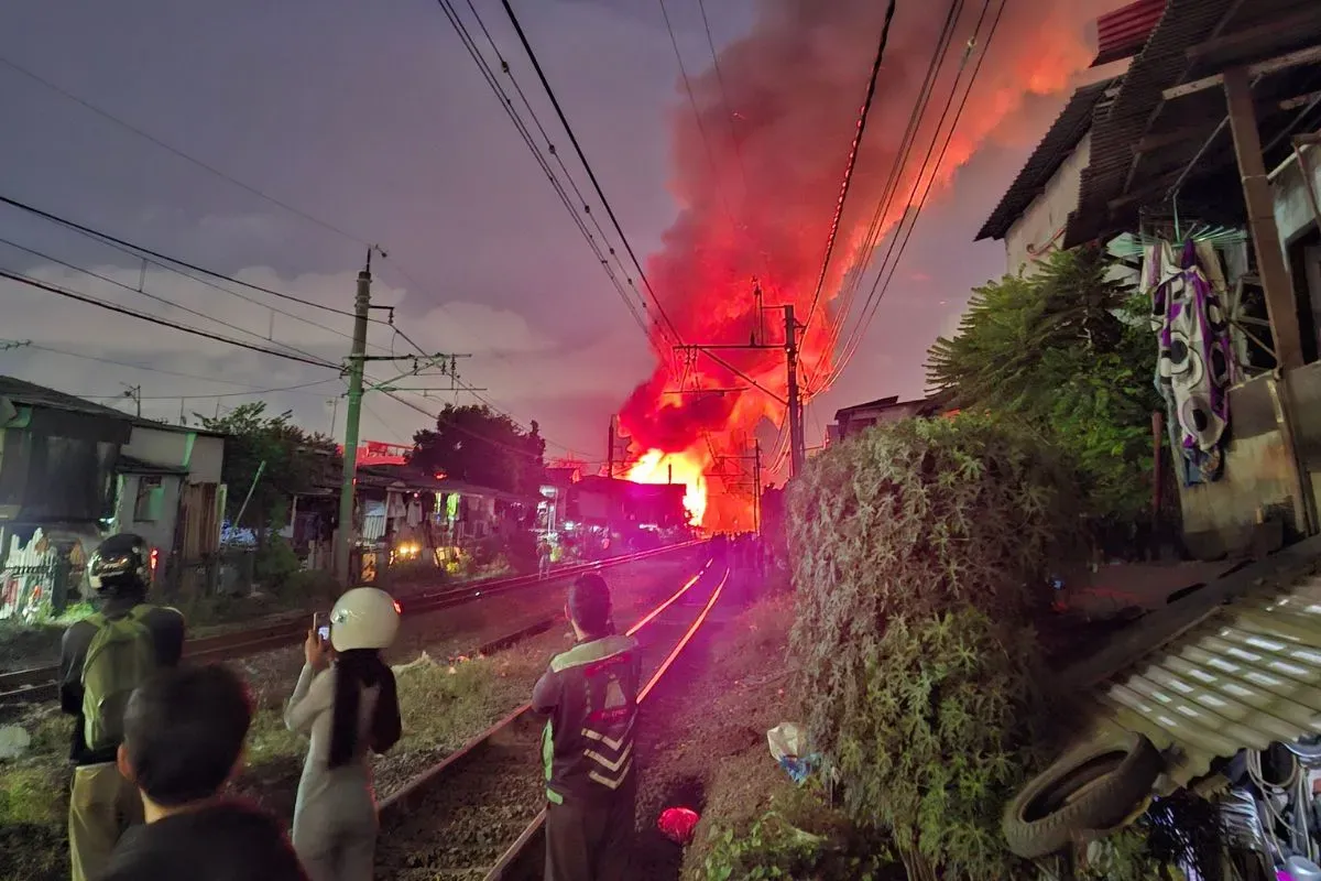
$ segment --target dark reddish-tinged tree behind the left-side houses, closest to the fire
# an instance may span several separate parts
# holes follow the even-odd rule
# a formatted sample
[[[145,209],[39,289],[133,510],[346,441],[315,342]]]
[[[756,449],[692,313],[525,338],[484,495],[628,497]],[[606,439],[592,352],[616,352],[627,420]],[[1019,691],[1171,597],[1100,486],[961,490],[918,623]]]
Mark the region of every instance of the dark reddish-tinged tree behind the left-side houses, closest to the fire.
[[[413,435],[411,462],[477,486],[535,495],[546,473],[546,440],[489,407],[446,404],[436,431]]]

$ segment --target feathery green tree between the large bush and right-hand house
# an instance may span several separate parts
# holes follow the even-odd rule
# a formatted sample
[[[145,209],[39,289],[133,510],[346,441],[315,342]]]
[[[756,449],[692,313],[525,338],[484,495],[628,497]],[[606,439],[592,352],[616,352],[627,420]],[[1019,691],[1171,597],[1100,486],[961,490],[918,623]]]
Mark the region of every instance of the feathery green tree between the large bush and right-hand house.
[[[1161,408],[1147,300],[1111,267],[1095,248],[1059,251],[1037,275],[978,288],[927,359],[950,405],[1009,416],[1070,457],[1102,524],[1144,519]]]

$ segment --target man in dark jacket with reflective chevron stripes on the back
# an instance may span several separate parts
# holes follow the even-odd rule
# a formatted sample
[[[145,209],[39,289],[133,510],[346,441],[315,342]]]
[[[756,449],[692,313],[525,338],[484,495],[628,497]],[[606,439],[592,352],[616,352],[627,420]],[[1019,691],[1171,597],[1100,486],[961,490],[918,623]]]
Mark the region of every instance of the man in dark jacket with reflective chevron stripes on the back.
[[[596,573],[573,582],[565,617],[576,645],[551,659],[532,689],[532,709],[550,716],[546,881],[622,881],[637,799],[638,642],[616,633],[610,589]]]

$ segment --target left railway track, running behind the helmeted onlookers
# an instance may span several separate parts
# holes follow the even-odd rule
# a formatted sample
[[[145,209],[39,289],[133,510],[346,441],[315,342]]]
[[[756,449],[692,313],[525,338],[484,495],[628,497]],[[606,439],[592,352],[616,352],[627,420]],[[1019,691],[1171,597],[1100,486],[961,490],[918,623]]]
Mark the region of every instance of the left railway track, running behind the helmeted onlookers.
[[[700,542],[686,542],[683,544],[671,544],[664,548],[642,551],[639,553],[618,556],[598,563],[563,567],[544,577],[539,575],[524,575],[511,579],[478,581],[461,588],[415,594],[403,600],[400,605],[403,606],[403,614],[406,617],[428,614],[460,606],[474,600],[511,593],[538,584],[572,579],[584,572],[614,568],[627,563],[637,563],[639,560],[647,560],[660,555],[691,549],[697,544],[700,544]],[[547,621],[532,625],[532,627],[543,623],[543,630],[550,626],[550,621]],[[523,634],[519,631],[518,635],[534,635],[531,629],[528,630],[530,633]],[[297,617],[291,617],[287,621],[277,621],[256,626],[250,630],[189,639],[184,645],[184,658],[189,660],[207,662],[243,658],[263,651],[271,651],[273,649],[284,649],[287,646],[299,645],[306,637],[306,614],[300,614]],[[0,674],[0,704],[57,700],[59,697],[58,678],[59,668],[57,666],[30,667],[28,670]]]

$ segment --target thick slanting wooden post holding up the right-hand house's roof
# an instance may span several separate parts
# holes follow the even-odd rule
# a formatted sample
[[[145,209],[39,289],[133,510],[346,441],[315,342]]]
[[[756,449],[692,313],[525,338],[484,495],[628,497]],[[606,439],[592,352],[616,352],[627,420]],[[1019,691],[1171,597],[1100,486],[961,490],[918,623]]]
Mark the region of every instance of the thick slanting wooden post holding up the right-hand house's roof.
[[[1303,366],[1303,335],[1289,269],[1284,264],[1280,230],[1275,225],[1275,199],[1262,159],[1262,135],[1256,127],[1250,85],[1252,73],[1239,67],[1225,71],[1222,77],[1230,110],[1230,131],[1234,133],[1234,153],[1243,181],[1243,201],[1247,203],[1248,230],[1275,337],[1276,361],[1280,367],[1295,370]]]

